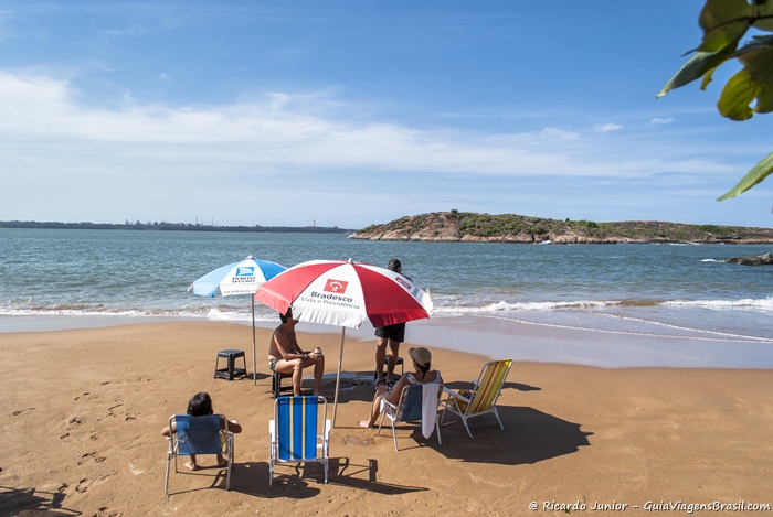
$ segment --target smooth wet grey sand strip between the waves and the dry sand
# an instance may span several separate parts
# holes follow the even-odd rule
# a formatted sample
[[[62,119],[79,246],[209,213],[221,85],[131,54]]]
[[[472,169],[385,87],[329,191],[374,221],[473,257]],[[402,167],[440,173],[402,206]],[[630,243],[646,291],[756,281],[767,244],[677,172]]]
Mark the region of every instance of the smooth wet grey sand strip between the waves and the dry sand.
[[[156,323],[223,323],[251,327],[251,324],[245,322],[220,322],[192,317],[2,315],[0,316],[0,336],[4,333],[61,332]],[[273,330],[278,322],[256,321],[255,324],[256,330]],[[340,336],[341,327],[301,322],[298,332]],[[360,328],[347,328],[346,337],[359,342],[375,341],[373,328],[368,322]],[[438,316],[410,322],[406,327],[405,344],[460,353],[479,353],[490,359],[512,357],[515,360],[600,368],[773,369],[773,343],[770,340],[750,341],[731,337],[712,340],[679,335],[646,335],[467,315]],[[261,349],[260,342],[256,346]]]

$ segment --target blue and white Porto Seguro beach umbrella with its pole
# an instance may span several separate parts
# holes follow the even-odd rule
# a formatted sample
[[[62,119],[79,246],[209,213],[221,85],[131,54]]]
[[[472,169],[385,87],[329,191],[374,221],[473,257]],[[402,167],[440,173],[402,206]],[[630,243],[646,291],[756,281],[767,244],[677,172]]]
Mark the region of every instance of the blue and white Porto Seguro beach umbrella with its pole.
[[[255,290],[287,268],[267,260],[250,256],[241,262],[229,263],[211,271],[193,282],[188,291],[201,297],[214,298],[220,291],[223,297],[251,294],[252,300],[252,369],[253,385],[257,384],[257,359],[255,358]]]

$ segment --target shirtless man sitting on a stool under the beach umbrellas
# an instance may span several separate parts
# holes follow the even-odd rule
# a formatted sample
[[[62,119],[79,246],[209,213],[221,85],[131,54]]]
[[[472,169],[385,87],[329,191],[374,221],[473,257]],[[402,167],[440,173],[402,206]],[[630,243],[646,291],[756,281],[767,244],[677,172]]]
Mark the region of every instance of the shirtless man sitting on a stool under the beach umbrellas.
[[[314,352],[304,352],[295,336],[295,325],[298,320],[293,319],[293,310],[287,309],[285,314],[279,314],[282,324],[274,330],[268,346],[268,368],[272,371],[293,375],[293,394],[300,395],[300,381],[304,378],[304,368],[314,365],[314,395],[322,394],[322,374],[325,373],[325,356],[321,348]]]

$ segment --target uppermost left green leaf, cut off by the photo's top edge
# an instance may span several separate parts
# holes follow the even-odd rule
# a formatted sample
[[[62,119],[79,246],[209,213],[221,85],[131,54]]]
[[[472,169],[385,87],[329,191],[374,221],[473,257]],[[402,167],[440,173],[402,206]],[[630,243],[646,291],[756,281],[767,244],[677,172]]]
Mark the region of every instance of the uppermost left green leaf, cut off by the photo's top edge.
[[[756,10],[748,0],[707,0],[698,24],[703,40],[698,52],[718,52],[734,47],[756,18]]]

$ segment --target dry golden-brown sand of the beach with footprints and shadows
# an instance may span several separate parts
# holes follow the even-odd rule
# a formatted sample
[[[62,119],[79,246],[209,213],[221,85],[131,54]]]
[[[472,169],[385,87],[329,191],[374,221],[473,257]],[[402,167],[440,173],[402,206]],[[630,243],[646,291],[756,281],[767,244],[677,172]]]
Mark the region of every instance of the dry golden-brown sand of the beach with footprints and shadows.
[[[481,417],[472,422],[473,439],[460,423],[444,427],[441,445],[404,427],[399,452],[389,430],[377,438],[357,427],[373,394],[357,385],[341,391],[329,484],[311,464],[278,466],[269,487],[268,336],[258,330],[254,386],[213,378],[224,348],[245,349],[252,369],[243,325],[0,334],[0,515],[685,514],[700,511],[696,505],[773,504],[773,375],[765,369],[517,362],[499,402],[504,431]],[[321,346],[326,371],[335,373],[339,334],[301,325],[299,341]],[[488,360],[424,345],[454,388]],[[373,352],[373,342],[347,341],[343,370],[370,371]],[[168,498],[160,430],[198,391],[244,428],[231,491],[221,471],[204,468],[173,474]]]

